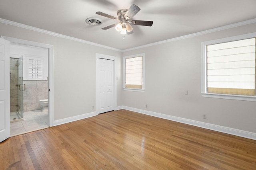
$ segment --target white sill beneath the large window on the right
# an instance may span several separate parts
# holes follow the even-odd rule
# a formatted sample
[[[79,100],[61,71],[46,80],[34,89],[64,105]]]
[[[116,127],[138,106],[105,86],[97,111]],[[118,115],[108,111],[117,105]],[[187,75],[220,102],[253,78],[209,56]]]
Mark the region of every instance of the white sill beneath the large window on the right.
[[[242,96],[242,95],[228,95],[228,94],[214,94],[214,93],[201,93],[202,97],[206,98],[220,98],[230,100],[244,100],[256,102],[256,96]]]

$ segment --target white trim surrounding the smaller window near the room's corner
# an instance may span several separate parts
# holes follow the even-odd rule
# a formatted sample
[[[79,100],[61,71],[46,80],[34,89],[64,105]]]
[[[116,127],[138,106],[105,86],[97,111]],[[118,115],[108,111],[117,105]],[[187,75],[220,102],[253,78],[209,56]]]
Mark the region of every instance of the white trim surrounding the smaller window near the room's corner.
[[[125,87],[125,59],[128,58],[134,58],[134,57],[140,57],[142,56],[142,89],[138,89],[138,88],[126,88]],[[145,92],[145,53],[141,53],[141,54],[136,54],[136,55],[129,55],[129,56],[125,56],[123,57],[123,90],[126,91],[134,91],[134,92]]]

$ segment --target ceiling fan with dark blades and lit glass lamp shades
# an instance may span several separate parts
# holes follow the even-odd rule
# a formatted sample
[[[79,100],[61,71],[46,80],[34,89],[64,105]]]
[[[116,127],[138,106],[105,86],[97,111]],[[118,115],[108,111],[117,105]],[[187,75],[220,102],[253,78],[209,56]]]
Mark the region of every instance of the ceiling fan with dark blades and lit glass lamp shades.
[[[106,30],[112,27],[116,27],[116,31],[120,31],[121,34],[125,35],[126,33],[127,34],[133,33],[132,25],[143,25],[143,26],[150,26],[150,27],[152,26],[153,21],[132,20],[132,17],[135,16],[139,11],[140,11],[140,8],[132,4],[129,9],[118,10],[116,12],[118,18],[114,16],[110,16],[103,12],[96,12],[96,14],[119,21],[119,23],[109,25],[102,29]]]

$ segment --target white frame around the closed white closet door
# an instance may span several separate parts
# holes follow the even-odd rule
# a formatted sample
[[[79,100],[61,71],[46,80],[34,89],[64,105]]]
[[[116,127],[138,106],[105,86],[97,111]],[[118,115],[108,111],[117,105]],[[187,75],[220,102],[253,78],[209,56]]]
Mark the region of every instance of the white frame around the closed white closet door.
[[[99,110],[98,110],[98,102],[100,100],[100,91],[98,89],[98,85],[100,84],[100,66],[98,64],[98,58],[100,59],[106,59],[106,60],[113,60],[114,61],[114,110],[116,110],[116,99],[117,99],[117,95],[116,95],[116,57],[111,56],[111,55],[104,55],[104,54],[99,54],[96,53],[96,102],[95,102],[95,109],[96,109],[96,114],[99,114]]]

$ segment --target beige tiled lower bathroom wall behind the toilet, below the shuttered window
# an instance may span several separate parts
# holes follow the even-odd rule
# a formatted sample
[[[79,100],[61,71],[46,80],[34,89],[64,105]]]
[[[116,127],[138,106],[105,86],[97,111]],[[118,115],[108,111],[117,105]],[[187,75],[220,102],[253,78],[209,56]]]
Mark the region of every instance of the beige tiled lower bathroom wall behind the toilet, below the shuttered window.
[[[23,111],[42,109],[39,100],[48,99],[47,80],[26,80],[26,90],[23,92]]]

